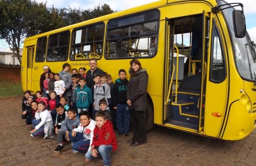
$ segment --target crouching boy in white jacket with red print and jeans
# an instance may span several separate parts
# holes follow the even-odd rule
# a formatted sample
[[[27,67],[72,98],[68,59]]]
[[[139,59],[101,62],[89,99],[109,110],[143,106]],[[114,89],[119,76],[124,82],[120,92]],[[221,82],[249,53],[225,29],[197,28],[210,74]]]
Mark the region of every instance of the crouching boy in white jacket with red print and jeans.
[[[93,140],[93,130],[95,128],[95,121],[91,119],[91,115],[87,111],[79,113],[80,125],[69,133],[69,138],[73,143],[73,152],[86,153],[90,150]]]

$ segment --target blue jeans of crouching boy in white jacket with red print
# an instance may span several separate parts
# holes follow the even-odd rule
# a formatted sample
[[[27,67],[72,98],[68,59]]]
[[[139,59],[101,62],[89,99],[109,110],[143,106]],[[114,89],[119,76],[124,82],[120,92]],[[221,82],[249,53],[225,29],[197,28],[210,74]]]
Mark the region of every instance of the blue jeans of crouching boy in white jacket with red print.
[[[69,138],[73,143],[72,148],[78,152],[86,153],[90,147],[90,140],[83,137],[83,133],[77,132],[73,137],[72,131],[69,132]]]

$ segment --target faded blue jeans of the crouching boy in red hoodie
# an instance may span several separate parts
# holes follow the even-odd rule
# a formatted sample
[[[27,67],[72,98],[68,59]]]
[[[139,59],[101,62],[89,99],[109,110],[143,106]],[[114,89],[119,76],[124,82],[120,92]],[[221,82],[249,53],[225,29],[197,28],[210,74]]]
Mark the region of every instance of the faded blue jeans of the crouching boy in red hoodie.
[[[113,147],[112,145],[100,145],[99,147],[96,148],[97,152],[98,152],[98,156],[101,156],[103,159],[103,163],[104,165],[111,165],[110,162],[110,153],[113,151]],[[87,159],[93,159],[96,158],[92,155],[92,150],[89,150],[86,153],[86,158]]]

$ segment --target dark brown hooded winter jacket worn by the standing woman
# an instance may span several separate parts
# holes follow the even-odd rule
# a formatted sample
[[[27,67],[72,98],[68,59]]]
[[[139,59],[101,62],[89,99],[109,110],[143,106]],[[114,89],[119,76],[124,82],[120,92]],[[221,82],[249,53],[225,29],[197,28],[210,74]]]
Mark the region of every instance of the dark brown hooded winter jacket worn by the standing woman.
[[[131,76],[127,88],[127,100],[132,101],[132,109],[137,111],[146,110],[147,97],[146,87],[148,82],[148,75],[145,69],[137,71]]]

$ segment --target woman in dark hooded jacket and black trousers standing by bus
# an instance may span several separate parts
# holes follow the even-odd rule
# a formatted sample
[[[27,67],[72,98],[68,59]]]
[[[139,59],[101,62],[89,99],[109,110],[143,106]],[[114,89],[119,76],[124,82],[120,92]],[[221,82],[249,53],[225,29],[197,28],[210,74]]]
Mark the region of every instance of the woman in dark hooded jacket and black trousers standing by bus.
[[[130,146],[146,143],[145,110],[147,107],[146,87],[148,75],[137,59],[130,62],[131,78],[127,89],[127,104],[131,106],[133,118],[133,139]]]

